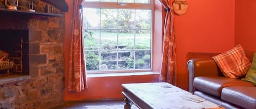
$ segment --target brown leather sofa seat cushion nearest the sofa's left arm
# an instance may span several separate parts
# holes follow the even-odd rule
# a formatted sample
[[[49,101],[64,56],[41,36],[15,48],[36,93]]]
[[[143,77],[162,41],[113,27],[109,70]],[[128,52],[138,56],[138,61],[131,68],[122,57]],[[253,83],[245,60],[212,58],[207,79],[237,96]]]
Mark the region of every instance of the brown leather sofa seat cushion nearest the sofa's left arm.
[[[252,86],[250,82],[239,79],[225,78],[222,76],[198,76],[194,79],[193,86],[200,91],[221,97],[221,91],[224,87],[230,86]]]

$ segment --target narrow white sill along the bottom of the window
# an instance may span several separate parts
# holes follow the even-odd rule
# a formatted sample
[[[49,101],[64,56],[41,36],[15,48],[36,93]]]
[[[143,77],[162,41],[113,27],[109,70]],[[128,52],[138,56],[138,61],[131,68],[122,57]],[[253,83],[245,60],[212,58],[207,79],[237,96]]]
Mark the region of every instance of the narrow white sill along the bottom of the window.
[[[153,75],[153,74],[160,74],[160,73],[159,72],[100,73],[100,74],[87,74],[87,78],[110,77],[110,76]]]

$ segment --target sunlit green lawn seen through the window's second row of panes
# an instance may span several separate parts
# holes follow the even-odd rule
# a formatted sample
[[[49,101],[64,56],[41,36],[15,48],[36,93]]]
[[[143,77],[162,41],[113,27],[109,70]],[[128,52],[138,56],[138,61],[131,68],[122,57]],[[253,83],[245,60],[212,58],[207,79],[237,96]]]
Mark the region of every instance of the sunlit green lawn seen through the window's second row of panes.
[[[98,49],[99,48],[99,30],[91,31],[92,37],[86,38],[85,48],[86,49]],[[117,33],[102,32],[101,42],[104,47],[116,46],[117,45]],[[87,35],[88,36],[88,35]],[[151,47],[151,36],[150,31],[148,33],[135,34],[136,49],[150,49]],[[133,49],[134,46],[134,33],[119,33],[118,34],[118,45],[127,46],[127,49]],[[98,46],[98,47],[97,47]]]

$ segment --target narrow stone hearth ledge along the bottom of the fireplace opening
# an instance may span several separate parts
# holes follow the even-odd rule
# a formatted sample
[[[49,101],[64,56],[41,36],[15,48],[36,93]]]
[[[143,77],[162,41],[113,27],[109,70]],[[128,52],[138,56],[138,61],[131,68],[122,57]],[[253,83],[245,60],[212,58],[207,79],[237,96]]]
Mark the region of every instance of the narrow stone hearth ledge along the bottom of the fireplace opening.
[[[30,79],[31,77],[28,75],[13,75],[8,76],[6,78],[0,78],[0,85],[8,84],[10,82],[22,81]]]

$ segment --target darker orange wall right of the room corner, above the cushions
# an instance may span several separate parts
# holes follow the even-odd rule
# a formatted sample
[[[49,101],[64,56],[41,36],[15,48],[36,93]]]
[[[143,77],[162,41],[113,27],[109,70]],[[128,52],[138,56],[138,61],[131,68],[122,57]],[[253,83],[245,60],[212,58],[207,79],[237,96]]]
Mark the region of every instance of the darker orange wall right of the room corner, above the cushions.
[[[256,1],[235,1],[235,44],[256,51]]]

